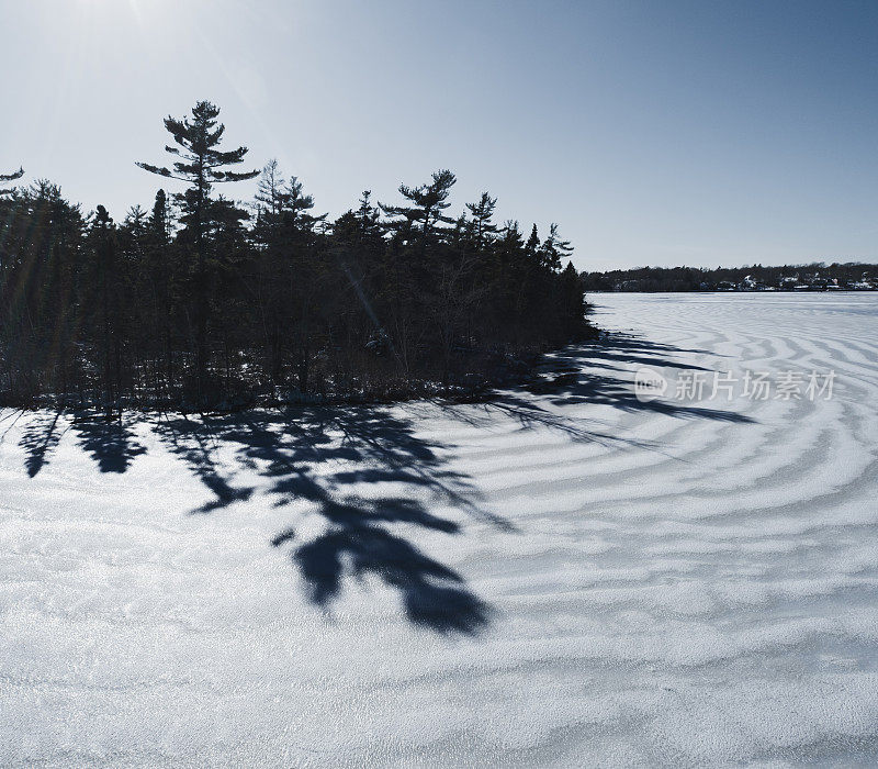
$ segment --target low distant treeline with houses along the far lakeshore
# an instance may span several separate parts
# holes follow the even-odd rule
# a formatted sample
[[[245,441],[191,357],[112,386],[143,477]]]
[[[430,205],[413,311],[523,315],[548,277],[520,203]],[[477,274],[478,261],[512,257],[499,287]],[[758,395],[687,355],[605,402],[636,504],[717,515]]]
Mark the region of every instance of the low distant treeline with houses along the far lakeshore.
[[[823,261],[783,267],[638,267],[583,272],[586,291],[717,291],[763,288],[878,288],[878,265]]]

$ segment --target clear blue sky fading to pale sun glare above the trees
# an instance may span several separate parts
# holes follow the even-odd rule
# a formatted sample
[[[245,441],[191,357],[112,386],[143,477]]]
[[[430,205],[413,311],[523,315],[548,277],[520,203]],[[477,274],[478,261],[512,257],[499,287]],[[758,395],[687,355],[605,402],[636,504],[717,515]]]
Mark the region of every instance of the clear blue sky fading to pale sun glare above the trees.
[[[556,221],[581,269],[878,260],[878,2],[0,0],[0,168],[119,219],[161,119],[210,99],[333,215],[448,167],[458,208]]]

